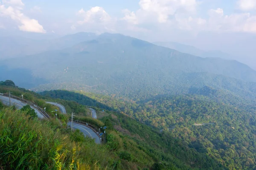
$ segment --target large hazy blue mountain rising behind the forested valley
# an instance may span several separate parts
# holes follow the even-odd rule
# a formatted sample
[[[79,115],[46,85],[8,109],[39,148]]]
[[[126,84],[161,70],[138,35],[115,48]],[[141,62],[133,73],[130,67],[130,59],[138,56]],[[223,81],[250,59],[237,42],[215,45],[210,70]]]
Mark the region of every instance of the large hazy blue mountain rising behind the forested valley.
[[[205,85],[250,96],[256,87],[256,71],[235,60],[197,57],[121,34],[73,34],[39,48],[51,50],[2,61],[0,79],[39,91],[130,97],[188,93]]]

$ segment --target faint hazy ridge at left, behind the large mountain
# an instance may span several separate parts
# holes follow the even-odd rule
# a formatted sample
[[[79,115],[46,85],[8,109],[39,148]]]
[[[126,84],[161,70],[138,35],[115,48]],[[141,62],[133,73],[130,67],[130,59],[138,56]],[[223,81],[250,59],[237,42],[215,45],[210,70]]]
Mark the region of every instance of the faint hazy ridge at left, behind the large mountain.
[[[95,38],[96,34],[85,32],[50,40],[32,40],[20,36],[0,37],[0,59],[24,57],[49,50],[60,50]]]

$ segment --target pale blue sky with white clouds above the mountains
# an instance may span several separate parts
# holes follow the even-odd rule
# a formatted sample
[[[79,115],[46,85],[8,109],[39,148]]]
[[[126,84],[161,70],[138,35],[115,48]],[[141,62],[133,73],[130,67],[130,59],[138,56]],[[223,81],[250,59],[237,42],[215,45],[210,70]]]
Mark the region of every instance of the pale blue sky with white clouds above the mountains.
[[[121,33],[253,58],[256,0],[0,0],[0,30]]]

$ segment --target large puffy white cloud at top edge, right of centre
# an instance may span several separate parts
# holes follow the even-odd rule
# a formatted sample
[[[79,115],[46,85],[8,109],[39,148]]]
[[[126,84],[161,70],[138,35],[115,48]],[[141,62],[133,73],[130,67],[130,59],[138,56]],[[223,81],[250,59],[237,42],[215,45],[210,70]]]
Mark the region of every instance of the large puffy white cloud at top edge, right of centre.
[[[121,20],[137,27],[153,24],[157,29],[192,30],[206,23],[196,16],[198,4],[196,0],[140,0],[140,9],[136,12],[123,10],[125,17]]]

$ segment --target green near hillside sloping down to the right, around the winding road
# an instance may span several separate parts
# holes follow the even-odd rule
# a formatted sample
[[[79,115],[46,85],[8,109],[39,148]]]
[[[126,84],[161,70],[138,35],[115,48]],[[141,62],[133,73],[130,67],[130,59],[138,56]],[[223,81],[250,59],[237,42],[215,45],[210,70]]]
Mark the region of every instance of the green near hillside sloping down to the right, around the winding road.
[[[79,131],[71,133],[70,129],[67,129],[67,116],[58,112],[60,120],[55,120],[55,115],[51,113],[56,109],[55,106],[45,101],[61,103],[67,108],[68,114],[75,111],[76,119],[88,120],[87,108],[84,105],[41,96],[17,88],[12,81],[1,82],[0,92],[9,91],[15,96],[23,94],[25,99],[42,108],[46,107],[47,113],[53,119],[50,122],[40,121],[36,118],[35,112],[27,106],[17,111],[15,107],[7,108],[0,102],[0,121],[3,122],[0,125],[2,148],[0,168],[2,169],[14,167],[99,170],[226,169],[215,158],[189,147],[181,139],[171,137],[169,132],[160,132],[116,111],[106,110],[105,116],[100,116],[102,110],[94,107],[101,118],[95,120],[93,125],[108,126],[107,142],[99,146],[91,139],[84,138]],[[91,101],[96,102],[93,99]]]

